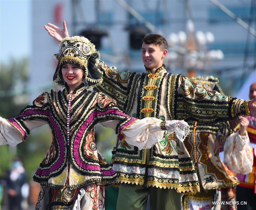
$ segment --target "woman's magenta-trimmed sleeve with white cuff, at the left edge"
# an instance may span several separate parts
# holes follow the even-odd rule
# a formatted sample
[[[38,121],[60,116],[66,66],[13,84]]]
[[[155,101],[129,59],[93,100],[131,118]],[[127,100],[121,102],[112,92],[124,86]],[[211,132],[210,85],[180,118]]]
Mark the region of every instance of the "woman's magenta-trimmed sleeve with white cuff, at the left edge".
[[[26,106],[20,114],[9,119],[0,118],[0,144],[16,146],[25,141],[30,131],[40,127],[49,120],[50,102],[49,94],[42,93],[32,106]]]

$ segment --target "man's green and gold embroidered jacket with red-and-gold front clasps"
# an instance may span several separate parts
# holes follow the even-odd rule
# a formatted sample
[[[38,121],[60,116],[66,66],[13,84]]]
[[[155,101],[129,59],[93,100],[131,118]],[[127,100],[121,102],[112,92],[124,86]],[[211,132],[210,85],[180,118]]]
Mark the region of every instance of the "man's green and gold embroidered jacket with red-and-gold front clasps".
[[[167,73],[165,66],[151,74],[120,72],[114,66],[99,63],[103,84],[97,90],[115,99],[137,118],[185,119],[216,122],[245,114],[245,101],[207,91],[187,77]],[[121,183],[175,188],[178,192],[198,191],[192,160],[183,143],[173,133],[151,149],[120,145],[117,139],[111,163]],[[145,178],[146,177],[146,178]]]

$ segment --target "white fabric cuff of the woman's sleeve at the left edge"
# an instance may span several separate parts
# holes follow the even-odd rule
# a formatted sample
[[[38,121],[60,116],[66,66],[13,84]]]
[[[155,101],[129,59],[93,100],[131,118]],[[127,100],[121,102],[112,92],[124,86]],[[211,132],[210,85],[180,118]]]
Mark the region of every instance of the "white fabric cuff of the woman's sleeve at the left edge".
[[[16,146],[21,142],[21,133],[8,123],[5,118],[0,117],[0,145],[9,144],[11,146]]]

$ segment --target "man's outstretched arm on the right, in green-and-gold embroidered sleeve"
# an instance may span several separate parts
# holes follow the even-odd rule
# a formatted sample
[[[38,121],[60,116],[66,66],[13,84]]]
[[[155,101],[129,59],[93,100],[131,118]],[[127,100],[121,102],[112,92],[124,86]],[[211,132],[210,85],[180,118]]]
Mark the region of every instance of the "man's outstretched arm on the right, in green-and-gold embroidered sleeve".
[[[216,123],[236,119],[239,115],[256,117],[256,105],[253,104],[256,98],[250,101],[232,98],[217,91],[208,91],[182,75],[173,77],[176,82],[169,82],[172,87],[168,93],[169,113],[173,115],[172,119]]]

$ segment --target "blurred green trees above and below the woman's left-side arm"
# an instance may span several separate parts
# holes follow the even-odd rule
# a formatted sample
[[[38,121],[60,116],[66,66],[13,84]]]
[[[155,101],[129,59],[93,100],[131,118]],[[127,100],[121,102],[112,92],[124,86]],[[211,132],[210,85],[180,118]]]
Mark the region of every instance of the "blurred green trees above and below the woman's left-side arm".
[[[27,104],[32,104],[26,94],[28,82],[28,59],[11,60],[0,66],[0,116],[10,118],[18,115]],[[40,84],[39,84],[40,85]],[[30,91],[32,92],[32,91]],[[46,155],[52,141],[49,127],[44,125],[34,129],[17,147],[0,146],[0,176],[5,176],[10,169],[13,158],[18,155],[23,158],[28,179],[32,179],[34,172]]]

